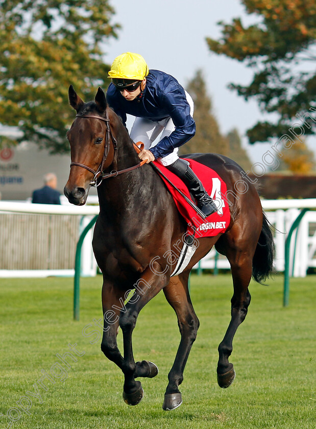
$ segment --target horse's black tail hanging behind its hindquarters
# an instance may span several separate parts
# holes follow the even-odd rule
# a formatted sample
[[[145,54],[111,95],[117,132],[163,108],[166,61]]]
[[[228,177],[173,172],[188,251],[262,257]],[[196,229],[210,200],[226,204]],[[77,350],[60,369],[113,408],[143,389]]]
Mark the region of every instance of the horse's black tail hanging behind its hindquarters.
[[[262,229],[252,259],[252,277],[258,283],[266,280],[274,271],[273,259],[275,255],[274,240],[270,222],[262,212]]]

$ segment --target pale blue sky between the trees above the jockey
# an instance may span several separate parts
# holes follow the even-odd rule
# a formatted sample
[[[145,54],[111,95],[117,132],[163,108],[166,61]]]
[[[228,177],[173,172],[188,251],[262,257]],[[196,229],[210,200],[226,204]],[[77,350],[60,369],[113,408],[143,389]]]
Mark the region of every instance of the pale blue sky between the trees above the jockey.
[[[246,130],[262,119],[254,101],[245,102],[227,88],[230,82],[248,84],[251,69],[211,53],[205,41],[208,36],[220,36],[218,21],[230,22],[237,16],[242,16],[245,23],[258,19],[247,15],[239,1],[112,0],[111,4],[116,12],[113,22],[120,23],[122,29],[117,40],[111,39],[104,46],[107,63],[123,52],[136,52],[145,58],[149,68],[173,75],[183,86],[202,69],[213,113],[223,133],[236,127],[245,136]],[[261,154],[270,146],[247,145],[245,137],[242,141],[253,162],[260,161]]]

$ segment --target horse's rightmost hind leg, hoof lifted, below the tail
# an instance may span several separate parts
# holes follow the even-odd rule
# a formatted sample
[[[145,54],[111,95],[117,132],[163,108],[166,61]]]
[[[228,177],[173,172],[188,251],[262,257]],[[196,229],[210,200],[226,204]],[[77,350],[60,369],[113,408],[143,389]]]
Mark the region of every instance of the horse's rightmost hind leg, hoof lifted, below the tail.
[[[233,364],[229,363],[228,358],[233,350],[233,338],[236,330],[245,320],[250,304],[251,296],[248,285],[252,273],[252,258],[240,256],[238,263],[231,262],[231,272],[234,284],[234,294],[231,299],[231,321],[223,341],[218,346],[217,382],[222,388],[229,387],[235,378]]]

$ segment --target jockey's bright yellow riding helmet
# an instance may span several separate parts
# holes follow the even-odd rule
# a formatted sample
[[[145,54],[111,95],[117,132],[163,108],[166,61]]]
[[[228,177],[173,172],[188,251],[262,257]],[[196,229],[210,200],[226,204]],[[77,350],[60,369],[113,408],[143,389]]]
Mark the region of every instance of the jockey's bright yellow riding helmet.
[[[148,66],[141,55],[126,52],[115,58],[108,78],[143,80],[148,73]]]

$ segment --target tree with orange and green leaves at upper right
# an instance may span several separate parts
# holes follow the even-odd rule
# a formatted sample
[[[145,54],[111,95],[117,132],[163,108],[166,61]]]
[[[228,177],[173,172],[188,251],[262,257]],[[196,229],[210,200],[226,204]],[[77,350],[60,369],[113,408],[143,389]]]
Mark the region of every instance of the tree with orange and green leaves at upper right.
[[[277,137],[292,125],[297,114],[315,106],[316,3],[314,0],[242,0],[246,12],[260,22],[245,27],[240,18],[219,22],[222,37],[207,38],[209,49],[244,61],[255,73],[248,86],[230,84],[245,100],[256,99],[262,111],[274,113],[276,122],[258,122],[247,131],[250,143]],[[308,118],[305,133],[314,134]]]

